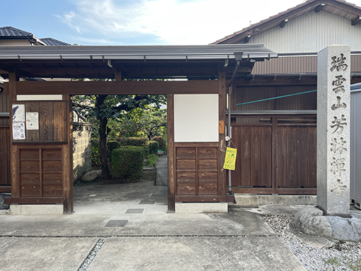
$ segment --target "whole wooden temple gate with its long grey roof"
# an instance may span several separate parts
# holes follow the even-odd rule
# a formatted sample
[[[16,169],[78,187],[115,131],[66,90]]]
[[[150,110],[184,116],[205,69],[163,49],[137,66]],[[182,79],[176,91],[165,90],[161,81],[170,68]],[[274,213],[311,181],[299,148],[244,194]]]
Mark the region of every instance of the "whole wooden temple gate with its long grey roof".
[[[175,211],[176,201],[226,202],[227,177],[222,166],[227,79],[236,72],[239,76],[250,74],[255,63],[250,61],[252,58],[264,61],[273,57],[277,54],[262,45],[2,48],[0,74],[9,79],[4,83],[4,93],[11,105],[24,108],[23,115],[38,113],[37,129],[28,129],[28,117],[16,123],[11,114],[9,203],[63,204],[64,214],[74,211],[70,96],[97,94],[166,94],[168,211]],[[69,81],[19,81],[19,77]],[[112,80],[70,81],[74,78]],[[183,80],[158,80],[173,78]],[[49,97],[47,101],[37,102],[26,98],[18,100],[19,96],[35,95],[55,95],[58,100]],[[195,122],[195,115],[189,114],[181,122],[176,120],[187,111],[185,101],[183,111],[175,114],[175,107],[179,105],[177,97],[181,96],[187,96],[189,101],[195,96],[212,100],[211,121],[208,115],[203,115],[203,119]],[[213,114],[216,110],[217,114]],[[197,128],[197,123],[203,122],[212,127],[211,138]],[[178,129],[180,123],[183,128]],[[192,128],[187,129],[188,124]],[[13,125],[16,129],[23,125],[23,138],[14,134]],[[179,134],[194,136],[183,140]]]

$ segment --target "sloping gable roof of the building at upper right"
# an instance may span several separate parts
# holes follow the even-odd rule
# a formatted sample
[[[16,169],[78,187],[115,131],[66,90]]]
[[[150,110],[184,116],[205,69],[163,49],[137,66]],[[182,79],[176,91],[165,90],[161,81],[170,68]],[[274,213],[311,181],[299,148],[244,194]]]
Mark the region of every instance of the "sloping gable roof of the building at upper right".
[[[325,4],[322,8],[323,11],[327,11],[336,16],[341,16],[343,18],[347,18],[352,21],[357,18],[357,16],[361,16],[361,7],[356,6],[355,4],[350,4],[347,1],[343,0],[309,0],[293,8],[287,9],[287,11],[282,11],[275,16],[271,16],[259,23],[255,23],[250,27],[243,28],[240,31],[237,31],[231,35],[227,35],[226,37],[219,39],[212,44],[224,44],[224,43],[239,43],[243,42],[242,39],[248,35],[254,36],[259,33],[264,32],[270,28],[274,28],[275,26],[280,25],[282,21],[288,19],[288,21],[301,16],[304,13],[308,13],[309,11],[314,10],[316,6],[321,4]]]

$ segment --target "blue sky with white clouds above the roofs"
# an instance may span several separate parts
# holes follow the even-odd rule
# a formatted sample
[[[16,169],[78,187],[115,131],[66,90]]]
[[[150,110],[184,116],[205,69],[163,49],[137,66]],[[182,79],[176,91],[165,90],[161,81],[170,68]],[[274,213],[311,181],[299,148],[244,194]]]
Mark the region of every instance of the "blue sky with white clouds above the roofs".
[[[0,26],[78,45],[205,45],[303,0],[12,0]],[[349,0],[361,6],[361,0]]]

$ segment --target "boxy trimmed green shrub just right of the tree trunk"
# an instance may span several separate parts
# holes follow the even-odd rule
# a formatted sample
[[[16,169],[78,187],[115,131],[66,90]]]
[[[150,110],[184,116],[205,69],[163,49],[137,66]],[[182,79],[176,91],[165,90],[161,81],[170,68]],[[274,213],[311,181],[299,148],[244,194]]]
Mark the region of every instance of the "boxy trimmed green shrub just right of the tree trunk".
[[[139,180],[143,173],[144,148],[139,146],[121,146],[113,150],[112,168],[113,178],[130,178]]]

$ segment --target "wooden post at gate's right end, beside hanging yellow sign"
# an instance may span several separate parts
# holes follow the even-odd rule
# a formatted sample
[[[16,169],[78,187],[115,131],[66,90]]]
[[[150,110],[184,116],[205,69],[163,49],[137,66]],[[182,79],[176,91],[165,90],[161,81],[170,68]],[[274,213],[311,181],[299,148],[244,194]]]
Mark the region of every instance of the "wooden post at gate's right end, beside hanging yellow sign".
[[[226,72],[219,69],[218,72],[218,103],[219,103],[219,122],[226,123]],[[229,125],[229,124],[228,124]],[[227,170],[223,168],[224,158],[226,156],[226,142],[224,140],[224,131],[219,131],[219,195],[227,200]]]

